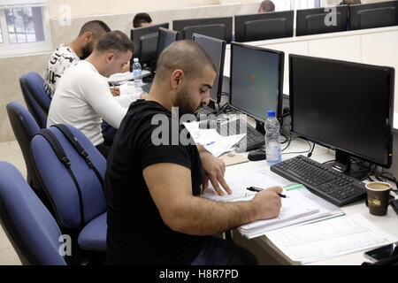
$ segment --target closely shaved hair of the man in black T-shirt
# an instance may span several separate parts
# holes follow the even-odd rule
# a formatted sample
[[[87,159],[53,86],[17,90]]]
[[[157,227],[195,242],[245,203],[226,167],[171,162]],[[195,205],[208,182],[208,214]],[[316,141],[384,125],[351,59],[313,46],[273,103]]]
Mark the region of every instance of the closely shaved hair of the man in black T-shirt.
[[[160,54],[157,60],[155,80],[165,80],[177,69],[193,79],[201,75],[206,65],[216,72],[216,66],[209,54],[197,42],[184,40],[173,42]]]

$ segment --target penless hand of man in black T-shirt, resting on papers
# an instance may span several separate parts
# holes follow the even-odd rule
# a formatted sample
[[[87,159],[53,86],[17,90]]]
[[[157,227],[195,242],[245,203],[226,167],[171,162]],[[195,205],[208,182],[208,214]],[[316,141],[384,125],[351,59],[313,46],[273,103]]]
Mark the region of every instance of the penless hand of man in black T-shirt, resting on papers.
[[[202,149],[199,153],[206,174],[203,180],[203,193],[209,188],[209,180],[218,195],[225,195],[223,189],[228,195],[232,194],[231,188],[226,184],[224,174],[226,173],[226,164],[224,161],[214,157],[206,149]],[[221,187],[219,186],[221,185]]]

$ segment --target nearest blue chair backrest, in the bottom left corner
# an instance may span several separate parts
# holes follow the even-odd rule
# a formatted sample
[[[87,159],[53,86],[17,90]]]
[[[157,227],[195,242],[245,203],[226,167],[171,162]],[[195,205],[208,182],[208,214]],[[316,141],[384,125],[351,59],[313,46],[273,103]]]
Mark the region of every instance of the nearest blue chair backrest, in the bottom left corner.
[[[0,222],[22,264],[65,265],[61,231],[20,172],[0,162]]]

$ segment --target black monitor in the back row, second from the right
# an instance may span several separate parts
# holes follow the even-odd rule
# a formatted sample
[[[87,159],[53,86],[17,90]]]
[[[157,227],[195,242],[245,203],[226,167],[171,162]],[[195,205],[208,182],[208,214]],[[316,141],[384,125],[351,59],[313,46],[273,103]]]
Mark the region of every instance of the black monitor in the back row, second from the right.
[[[297,10],[295,34],[300,36],[346,31],[348,23],[348,5],[333,7],[333,9],[336,9],[335,18],[331,15],[333,10],[325,9],[326,8]],[[333,19],[336,19],[335,23]]]

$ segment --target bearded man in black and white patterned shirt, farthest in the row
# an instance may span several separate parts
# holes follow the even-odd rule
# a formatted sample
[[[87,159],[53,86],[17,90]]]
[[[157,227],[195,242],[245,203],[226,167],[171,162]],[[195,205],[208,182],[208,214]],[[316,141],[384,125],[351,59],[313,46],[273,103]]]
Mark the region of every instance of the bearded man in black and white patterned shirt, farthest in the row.
[[[103,34],[111,31],[103,21],[91,20],[81,27],[78,37],[66,45],[61,44],[51,55],[46,73],[46,91],[52,98],[57,83],[65,70],[80,59],[88,57]],[[113,94],[115,95],[115,94]]]

